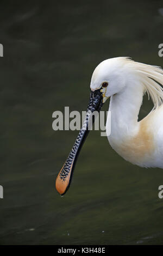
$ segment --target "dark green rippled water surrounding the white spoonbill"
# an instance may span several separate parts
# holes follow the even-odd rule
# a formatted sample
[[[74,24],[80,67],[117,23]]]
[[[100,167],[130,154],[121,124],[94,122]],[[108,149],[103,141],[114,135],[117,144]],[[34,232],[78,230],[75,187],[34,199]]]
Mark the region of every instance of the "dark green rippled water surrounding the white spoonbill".
[[[78,131],[52,130],[54,111],[86,109],[102,60],[163,66],[159,8],[162,1],[1,1],[1,245],[163,244],[163,170],[133,166],[92,131],[61,198],[54,181]],[[145,98],[140,117],[151,107]]]

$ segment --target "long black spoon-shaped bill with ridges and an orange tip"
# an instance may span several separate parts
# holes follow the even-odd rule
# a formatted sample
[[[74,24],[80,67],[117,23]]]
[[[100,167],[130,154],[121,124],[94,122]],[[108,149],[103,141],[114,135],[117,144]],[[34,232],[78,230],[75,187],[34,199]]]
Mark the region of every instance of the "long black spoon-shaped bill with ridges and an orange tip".
[[[103,105],[103,96],[102,96],[102,93],[100,92],[100,89],[95,90],[95,92],[91,92],[89,104],[87,106],[87,113],[86,113],[86,117],[85,117],[82,129],[79,131],[79,135],[76,139],[76,142],[74,143],[73,148],[70,154],[68,155],[64,166],[61,168],[55,182],[56,189],[61,195],[64,195],[68,190],[68,188],[70,187],[73,170],[77,161],[77,157],[89,133],[90,121],[92,121],[92,123],[95,121],[94,116],[92,117],[92,113],[94,111],[99,112],[102,105]]]

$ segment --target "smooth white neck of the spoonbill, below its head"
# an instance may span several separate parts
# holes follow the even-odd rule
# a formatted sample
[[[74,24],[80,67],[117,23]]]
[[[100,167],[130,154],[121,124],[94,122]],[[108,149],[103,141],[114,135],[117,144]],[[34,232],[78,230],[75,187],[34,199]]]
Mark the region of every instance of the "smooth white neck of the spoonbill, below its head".
[[[110,137],[122,140],[136,133],[139,129],[137,119],[142,97],[143,86],[134,83],[126,86],[123,92],[111,96],[109,106],[109,111],[111,111]]]

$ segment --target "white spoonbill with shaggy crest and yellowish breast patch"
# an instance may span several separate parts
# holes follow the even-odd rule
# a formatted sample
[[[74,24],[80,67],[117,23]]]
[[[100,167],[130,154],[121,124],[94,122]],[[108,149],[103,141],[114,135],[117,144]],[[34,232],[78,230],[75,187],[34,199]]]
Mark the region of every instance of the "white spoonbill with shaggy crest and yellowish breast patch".
[[[163,70],[160,66],[135,62],[130,57],[110,58],[99,63],[91,78],[84,124],[55,182],[61,195],[70,187],[79,151],[89,133],[87,127],[91,113],[99,112],[109,98],[111,118],[106,120],[106,134],[111,148],[137,166],[163,168],[162,86]],[[152,99],[153,109],[138,121],[146,93],[148,99]]]

